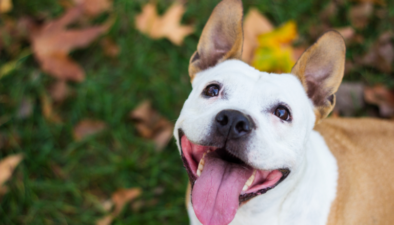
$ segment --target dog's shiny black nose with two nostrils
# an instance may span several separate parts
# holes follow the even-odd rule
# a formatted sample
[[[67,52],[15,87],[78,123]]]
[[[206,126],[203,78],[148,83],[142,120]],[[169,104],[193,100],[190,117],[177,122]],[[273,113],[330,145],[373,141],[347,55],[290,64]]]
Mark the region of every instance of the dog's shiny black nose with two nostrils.
[[[229,139],[236,139],[244,136],[254,128],[250,116],[238,110],[226,109],[220,111],[215,118],[216,126],[220,133],[228,136]]]

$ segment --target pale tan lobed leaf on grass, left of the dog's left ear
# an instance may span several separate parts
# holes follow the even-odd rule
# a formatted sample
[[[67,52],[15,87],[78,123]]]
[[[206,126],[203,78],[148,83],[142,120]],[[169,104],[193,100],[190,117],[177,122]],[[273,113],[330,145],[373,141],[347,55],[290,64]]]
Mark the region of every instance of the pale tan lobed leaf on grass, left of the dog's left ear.
[[[142,12],[135,16],[135,27],[152,39],[165,37],[180,46],[183,39],[194,32],[192,26],[181,25],[184,13],[184,5],[175,2],[163,16],[159,16],[156,5],[148,3],[142,8]]]

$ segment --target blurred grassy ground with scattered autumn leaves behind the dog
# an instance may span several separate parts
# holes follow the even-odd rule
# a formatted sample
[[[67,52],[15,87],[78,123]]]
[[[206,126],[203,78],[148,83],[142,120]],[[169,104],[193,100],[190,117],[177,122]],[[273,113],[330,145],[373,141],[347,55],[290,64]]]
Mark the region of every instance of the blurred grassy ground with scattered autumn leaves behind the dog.
[[[0,0],[0,224],[188,223],[172,127],[218,2]],[[245,62],[289,72],[336,29],[330,116],[394,116],[392,1],[243,3]]]

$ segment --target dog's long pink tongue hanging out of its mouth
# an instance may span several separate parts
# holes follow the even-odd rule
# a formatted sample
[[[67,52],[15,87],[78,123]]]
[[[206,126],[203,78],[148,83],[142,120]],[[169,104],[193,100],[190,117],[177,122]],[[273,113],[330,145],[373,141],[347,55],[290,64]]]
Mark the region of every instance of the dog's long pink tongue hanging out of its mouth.
[[[234,219],[238,198],[253,169],[223,161],[216,152],[208,153],[204,160],[191,193],[195,215],[204,225],[227,225]]]

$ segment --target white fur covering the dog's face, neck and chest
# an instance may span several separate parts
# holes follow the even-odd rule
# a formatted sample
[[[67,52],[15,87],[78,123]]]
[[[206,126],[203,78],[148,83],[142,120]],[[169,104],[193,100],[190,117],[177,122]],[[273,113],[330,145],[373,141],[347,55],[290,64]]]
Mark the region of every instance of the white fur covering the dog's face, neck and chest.
[[[212,81],[223,84],[219,97],[203,98],[203,89]],[[268,74],[227,60],[197,74],[192,86],[175,124],[179,147],[179,128],[198,143],[209,136],[219,111],[237,109],[257,125],[242,160],[258,169],[291,171],[277,187],[242,206],[230,224],[325,224],[336,196],[337,162],[320,134],[312,131],[313,105],[301,82],[291,74]],[[226,99],[221,98],[223,89]],[[267,111],[277,102],[291,108],[291,123]],[[191,224],[201,224],[192,207],[188,212]]]

